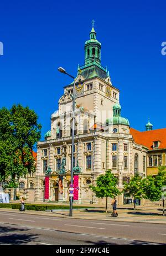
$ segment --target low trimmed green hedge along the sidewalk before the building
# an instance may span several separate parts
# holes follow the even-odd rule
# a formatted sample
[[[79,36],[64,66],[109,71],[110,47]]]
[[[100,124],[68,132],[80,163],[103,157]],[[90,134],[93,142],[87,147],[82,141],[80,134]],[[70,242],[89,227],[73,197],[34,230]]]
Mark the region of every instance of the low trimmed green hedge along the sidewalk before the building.
[[[9,203],[4,204],[0,203],[0,208],[12,208],[12,209],[20,209],[20,203]],[[72,208],[85,208],[83,206],[73,206]],[[89,207],[94,208],[94,207]],[[26,204],[25,203],[25,210],[52,210],[52,209],[69,209],[68,205],[51,205],[51,204]]]

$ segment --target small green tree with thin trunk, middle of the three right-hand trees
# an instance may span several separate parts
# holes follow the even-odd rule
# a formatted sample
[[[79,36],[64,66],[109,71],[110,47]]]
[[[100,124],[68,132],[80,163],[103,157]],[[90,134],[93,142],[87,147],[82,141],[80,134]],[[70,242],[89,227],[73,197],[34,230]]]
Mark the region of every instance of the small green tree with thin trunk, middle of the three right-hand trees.
[[[129,183],[123,182],[123,192],[129,197],[132,195],[134,199],[143,198],[143,189],[142,189],[142,177],[139,174],[136,174],[131,178]],[[134,210],[136,209],[136,203],[134,200]]]

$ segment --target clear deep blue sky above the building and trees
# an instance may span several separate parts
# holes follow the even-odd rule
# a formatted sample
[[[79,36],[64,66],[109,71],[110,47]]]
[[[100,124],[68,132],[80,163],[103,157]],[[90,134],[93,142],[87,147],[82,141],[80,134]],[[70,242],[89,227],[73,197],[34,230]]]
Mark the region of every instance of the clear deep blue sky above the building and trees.
[[[101,64],[120,89],[122,116],[144,130],[166,127],[165,1],[1,1],[0,108],[29,106],[42,123],[42,139],[50,116],[58,109],[63,86],[84,64],[84,43],[95,19],[102,43]]]

